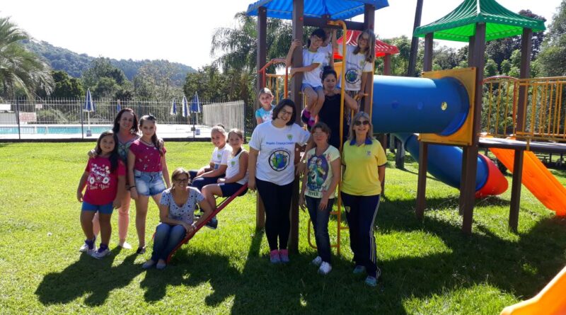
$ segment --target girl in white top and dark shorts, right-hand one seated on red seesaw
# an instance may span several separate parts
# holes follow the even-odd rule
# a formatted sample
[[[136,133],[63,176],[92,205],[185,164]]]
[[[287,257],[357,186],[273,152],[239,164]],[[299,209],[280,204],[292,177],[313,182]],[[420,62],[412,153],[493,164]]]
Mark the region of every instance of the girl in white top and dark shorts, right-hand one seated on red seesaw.
[[[228,143],[232,147],[232,153],[228,159],[226,177],[218,178],[218,183],[202,188],[202,195],[209,202],[212,210],[216,209],[214,196],[228,197],[248,183],[248,151],[242,148],[243,132],[239,129],[230,130]],[[242,195],[245,193],[243,192]]]

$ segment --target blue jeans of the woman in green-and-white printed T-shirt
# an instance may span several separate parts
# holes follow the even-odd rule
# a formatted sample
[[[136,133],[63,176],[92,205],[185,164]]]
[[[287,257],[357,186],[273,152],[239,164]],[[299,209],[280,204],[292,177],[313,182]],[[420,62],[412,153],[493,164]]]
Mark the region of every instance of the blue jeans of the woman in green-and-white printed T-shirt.
[[[318,209],[318,205],[320,205],[320,198],[305,196],[305,202],[308,209],[308,214],[311,215],[311,221],[313,222],[318,256],[320,256],[320,258],[323,258],[323,261],[330,263],[330,236],[328,235],[328,217],[330,217],[330,210],[332,210],[334,198],[328,199],[328,205],[326,205],[325,210]]]

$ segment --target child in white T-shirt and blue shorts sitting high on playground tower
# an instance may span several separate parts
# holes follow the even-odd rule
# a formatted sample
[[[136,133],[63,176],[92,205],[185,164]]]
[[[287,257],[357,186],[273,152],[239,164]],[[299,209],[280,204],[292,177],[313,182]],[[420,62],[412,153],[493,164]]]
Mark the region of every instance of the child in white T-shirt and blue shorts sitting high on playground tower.
[[[290,71],[291,76],[297,72],[303,72],[303,81],[301,84],[301,91],[307,98],[307,105],[301,114],[308,129],[314,125],[318,110],[324,103],[323,85],[320,82],[320,74],[322,74],[323,64],[325,62],[325,55],[318,52],[318,47],[326,40],[326,33],[322,28],[317,28],[311,33],[308,38],[307,49],[303,50],[303,67],[292,68]],[[293,59],[293,52],[297,47],[301,46],[300,40],[293,40],[291,47],[287,53],[287,67],[291,67]]]

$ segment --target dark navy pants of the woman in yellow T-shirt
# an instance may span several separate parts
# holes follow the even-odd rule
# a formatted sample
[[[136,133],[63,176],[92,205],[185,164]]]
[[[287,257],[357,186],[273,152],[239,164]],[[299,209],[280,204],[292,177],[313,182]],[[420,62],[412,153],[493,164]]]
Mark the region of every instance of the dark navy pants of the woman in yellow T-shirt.
[[[350,228],[350,248],[354,263],[366,268],[367,275],[377,274],[376,239],[374,222],[379,208],[379,195],[355,196],[342,193],[346,219]]]

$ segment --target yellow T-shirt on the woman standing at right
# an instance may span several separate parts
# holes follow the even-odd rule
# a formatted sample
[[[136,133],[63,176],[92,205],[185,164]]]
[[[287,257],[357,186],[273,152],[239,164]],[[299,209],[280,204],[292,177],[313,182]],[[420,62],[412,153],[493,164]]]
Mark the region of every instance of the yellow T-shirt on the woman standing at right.
[[[343,193],[357,196],[373,196],[381,193],[378,166],[387,164],[387,156],[376,139],[366,139],[361,146],[355,140],[347,141],[342,149],[342,164],[346,166],[342,176]]]

